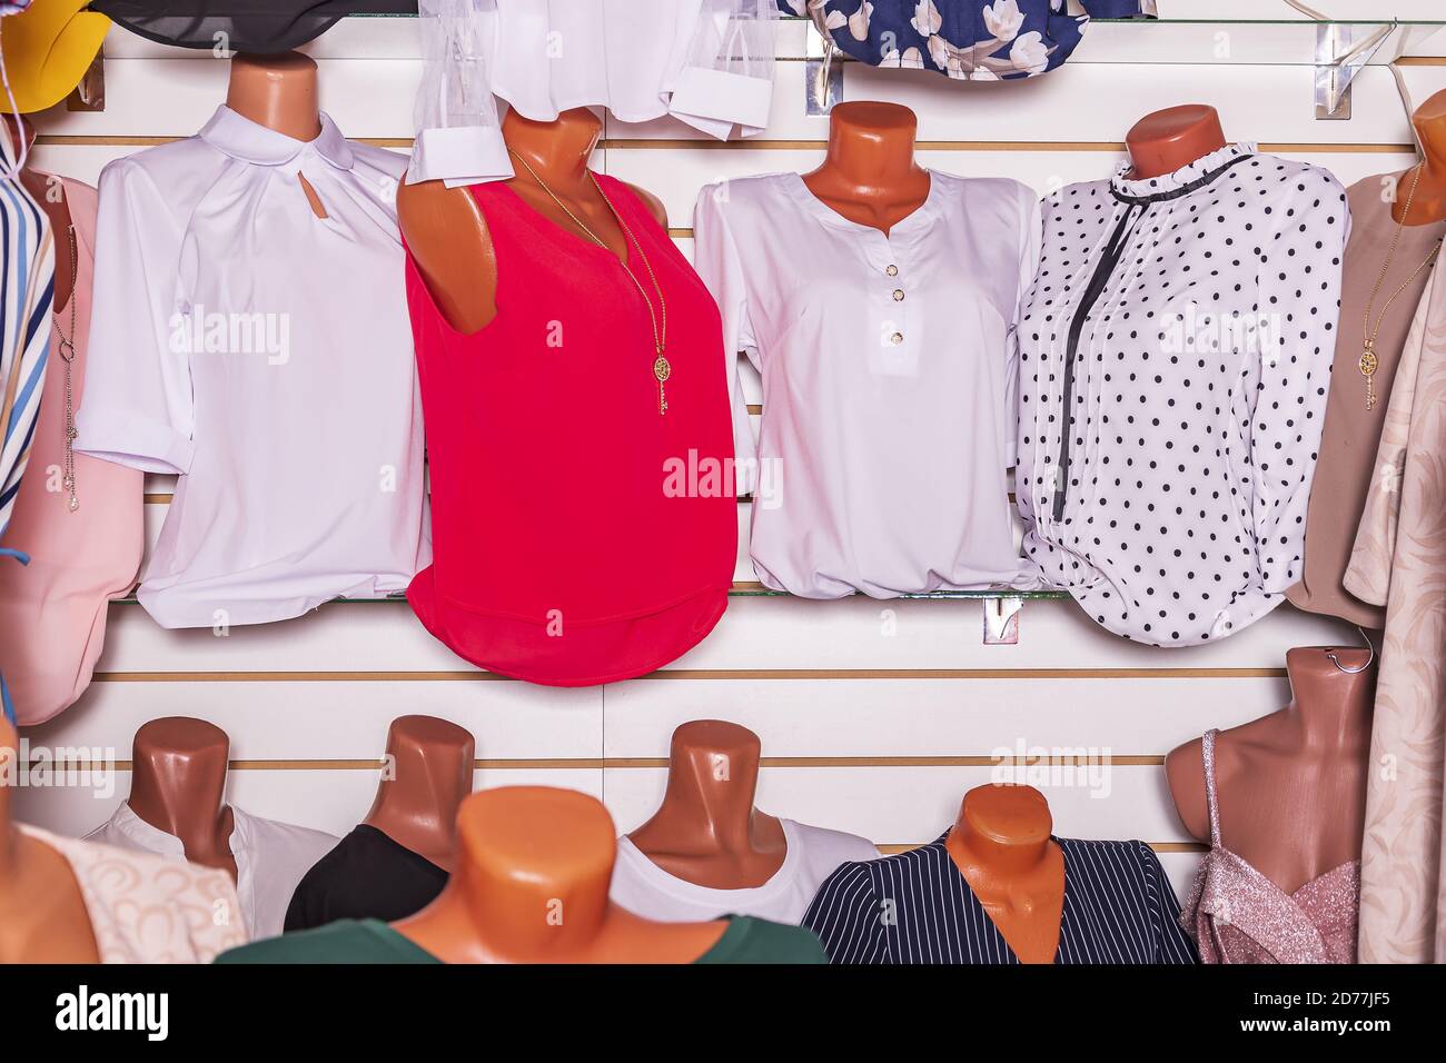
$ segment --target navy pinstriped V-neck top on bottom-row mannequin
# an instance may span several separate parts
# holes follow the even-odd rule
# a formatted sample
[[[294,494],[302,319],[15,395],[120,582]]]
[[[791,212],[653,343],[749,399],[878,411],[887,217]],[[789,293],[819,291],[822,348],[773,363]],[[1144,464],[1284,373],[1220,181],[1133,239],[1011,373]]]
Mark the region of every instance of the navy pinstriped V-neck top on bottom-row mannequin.
[[[944,837],[840,865],[804,915],[833,963],[1018,963]],[[1144,842],[1054,839],[1064,852],[1056,963],[1196,963],[1180,904]]]

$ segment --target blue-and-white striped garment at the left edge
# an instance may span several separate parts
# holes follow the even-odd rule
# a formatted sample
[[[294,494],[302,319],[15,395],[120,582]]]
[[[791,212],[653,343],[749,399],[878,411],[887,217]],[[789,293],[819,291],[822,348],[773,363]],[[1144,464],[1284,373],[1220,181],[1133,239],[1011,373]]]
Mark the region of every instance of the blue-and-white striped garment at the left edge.
[[[0,135],[0,535],[10,524],[40,412],[55,285],[49,220],[10,175],[14,166],[10,137]]]

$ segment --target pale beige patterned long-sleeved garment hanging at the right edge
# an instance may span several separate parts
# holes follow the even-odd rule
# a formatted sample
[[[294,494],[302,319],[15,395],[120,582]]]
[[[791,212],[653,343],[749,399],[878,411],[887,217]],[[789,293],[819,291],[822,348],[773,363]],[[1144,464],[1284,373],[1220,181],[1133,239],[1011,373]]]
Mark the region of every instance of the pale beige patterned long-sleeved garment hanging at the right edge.
[[[1361,962],[1446,962],[1446,270],[1432,276],[1385,411],[1345,574],[1385,606],[1361,853]]]

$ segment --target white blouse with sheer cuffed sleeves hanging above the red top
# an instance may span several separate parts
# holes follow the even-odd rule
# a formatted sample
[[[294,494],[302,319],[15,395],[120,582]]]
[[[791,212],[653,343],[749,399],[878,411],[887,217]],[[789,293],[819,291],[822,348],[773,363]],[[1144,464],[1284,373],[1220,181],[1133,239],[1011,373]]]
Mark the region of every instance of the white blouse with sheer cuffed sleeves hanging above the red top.
[[[774,0],[419,0],[422,81],[408,182],[500,181],[492,94],[534,121],[607,107],[720,140],[768,124]]]

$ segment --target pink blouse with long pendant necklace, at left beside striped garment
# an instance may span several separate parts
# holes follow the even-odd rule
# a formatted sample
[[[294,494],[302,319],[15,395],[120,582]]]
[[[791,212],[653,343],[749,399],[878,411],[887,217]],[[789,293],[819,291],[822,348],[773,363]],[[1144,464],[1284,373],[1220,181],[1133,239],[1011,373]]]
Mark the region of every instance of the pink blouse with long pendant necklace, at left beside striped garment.
[[[85,389],[90,334],[95,189],[62,179],[75,227],[75,346],[72,408]],[[55,234],[55,259],[69,256],[65,233]],[[106,636],[106,605],[129,592],[145,548],[143,474],[75,454],[75,498],[65,469],[65,360],[61,336],[71,336],[67,302],[52,317],[45,395],[35,425],[30,464],[0,545],[29,554],[27,565],[0,565],[0,674],[6,677],[22,725],[40,723],[72,704],[90,686]]]

